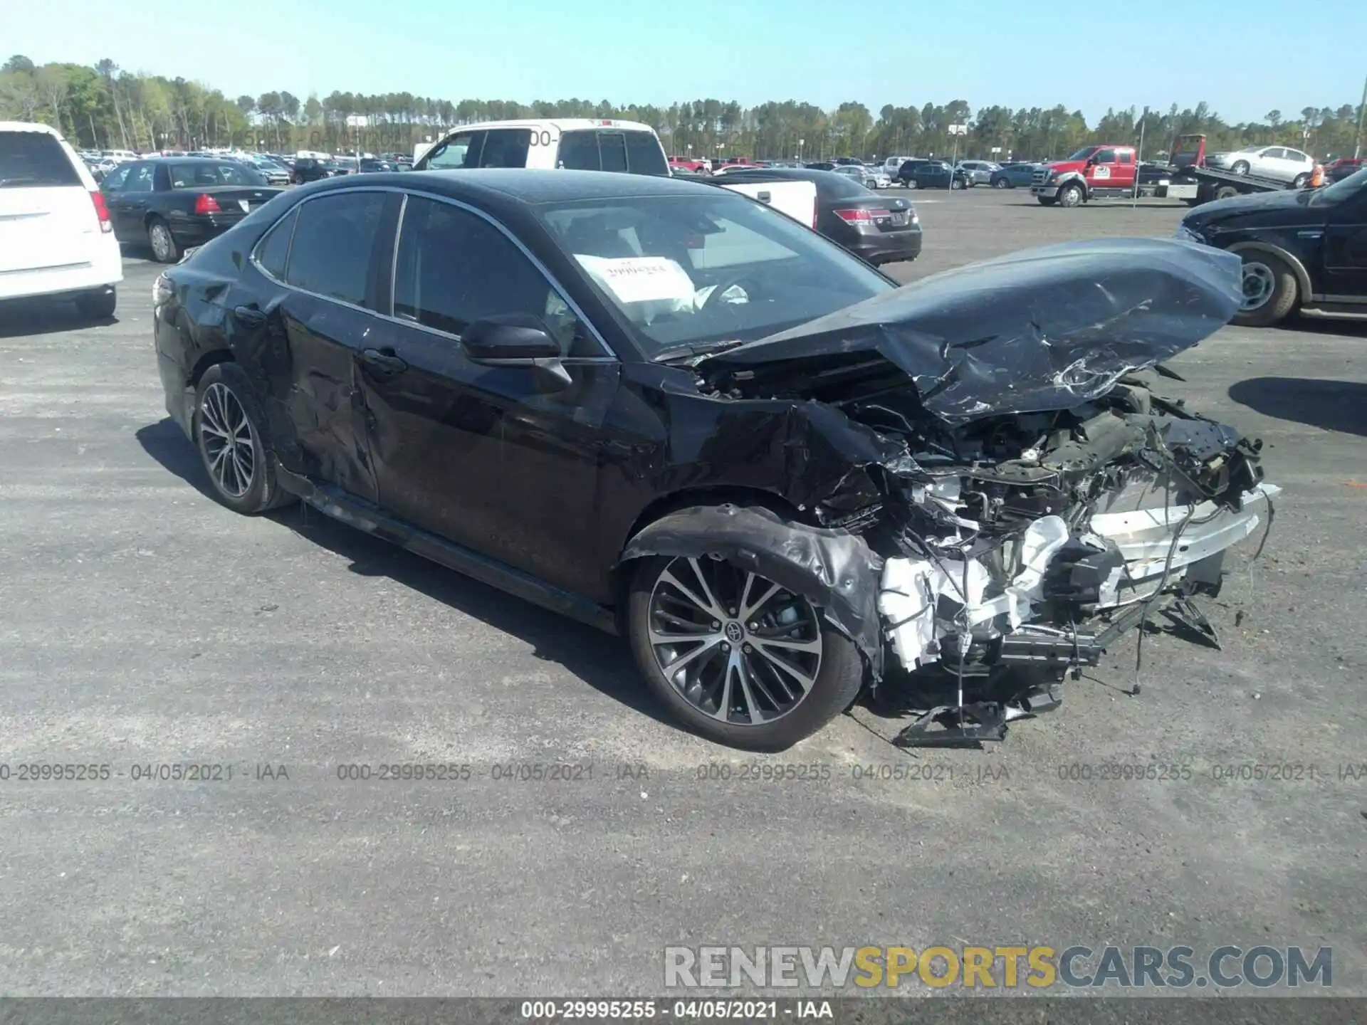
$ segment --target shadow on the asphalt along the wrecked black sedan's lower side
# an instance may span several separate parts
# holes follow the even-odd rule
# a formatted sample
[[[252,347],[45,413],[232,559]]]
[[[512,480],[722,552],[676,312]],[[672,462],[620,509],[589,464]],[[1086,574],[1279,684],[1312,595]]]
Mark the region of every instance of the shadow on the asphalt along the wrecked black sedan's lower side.
[[[194,446],[168,417],[137,432],[142,450],[213,502]],[[385,577],[530,644],[539,659],[567,668],[600,693],[658,722],[678,726],[641,683],[626,641],[504,594],[370,534],[295,504],[268,514],[301,537],[340,555],[362,577]]]

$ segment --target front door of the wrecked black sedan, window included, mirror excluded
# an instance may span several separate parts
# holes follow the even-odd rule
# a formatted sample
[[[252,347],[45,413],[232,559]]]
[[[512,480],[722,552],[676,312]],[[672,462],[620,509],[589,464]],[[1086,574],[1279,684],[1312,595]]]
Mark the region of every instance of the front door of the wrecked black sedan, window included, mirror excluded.
[[[489,217],[407,194],[394,253],[392,317],[358,353],[369,452],[387,511],[576,593],[601,578],[597,481],[621,365],[562,292]],[[461,332],[484,317],[540,317],[567,381],[472,359]]]

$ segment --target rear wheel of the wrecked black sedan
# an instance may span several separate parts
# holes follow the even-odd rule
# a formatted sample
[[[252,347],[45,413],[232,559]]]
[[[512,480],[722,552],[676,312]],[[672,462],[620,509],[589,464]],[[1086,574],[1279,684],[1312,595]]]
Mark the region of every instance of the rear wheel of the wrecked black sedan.
[[[216,364],[204,372],[191,420],[195,448],[209,474],[213,496],[243,515],[257,515],[294,500],[276,482],[264,424],[241,366]]]

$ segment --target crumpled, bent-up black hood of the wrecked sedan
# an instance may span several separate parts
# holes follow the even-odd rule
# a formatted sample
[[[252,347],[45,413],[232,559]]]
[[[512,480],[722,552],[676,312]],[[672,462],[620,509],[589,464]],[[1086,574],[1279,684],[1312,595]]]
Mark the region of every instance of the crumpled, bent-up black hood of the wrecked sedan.
[[[1069,409],[1191,348],[1243,301],[1237,256],[1178,239],[1044,246],[718,353],[705,373],[878,353],[950,424]]]

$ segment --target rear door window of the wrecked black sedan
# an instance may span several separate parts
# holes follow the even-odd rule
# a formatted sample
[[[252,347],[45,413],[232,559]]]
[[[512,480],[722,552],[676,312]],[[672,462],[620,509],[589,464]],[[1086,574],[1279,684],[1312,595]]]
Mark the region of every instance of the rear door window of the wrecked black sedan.
[[[385,193],[336,193],[301,204],[284,280],[329,299],[368,306],[370,251]]]

